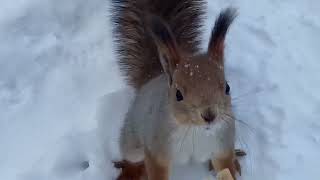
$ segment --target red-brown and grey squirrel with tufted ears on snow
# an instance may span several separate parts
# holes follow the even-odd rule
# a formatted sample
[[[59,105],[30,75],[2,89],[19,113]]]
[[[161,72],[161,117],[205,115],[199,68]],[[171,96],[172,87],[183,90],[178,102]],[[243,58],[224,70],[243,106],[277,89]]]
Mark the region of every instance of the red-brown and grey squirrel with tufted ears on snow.
[[[172,164],[189,161],[209,161],[221,179],[241,173],[224,72],[224,41],[237,12],[230,7],[220,12],[201,52],[205,5],[112,1],[120,70],[136,92],[121,129],[119,180],[168,180]],[[219,176],[226,169],[231,175]]]

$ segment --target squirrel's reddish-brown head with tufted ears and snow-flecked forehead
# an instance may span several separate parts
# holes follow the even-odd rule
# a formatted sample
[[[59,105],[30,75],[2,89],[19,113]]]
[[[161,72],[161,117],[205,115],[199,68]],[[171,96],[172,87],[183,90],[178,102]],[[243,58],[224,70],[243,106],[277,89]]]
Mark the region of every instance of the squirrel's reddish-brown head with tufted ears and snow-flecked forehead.
[[[221,12],[207,52],[197,55],[181,49],[169,26],[158,17],[152,18],[150,33],[168,77],[169,106],[178,123],[205,125],[233,120],[224,72],[224,40],[235,15],[230,8]]]

